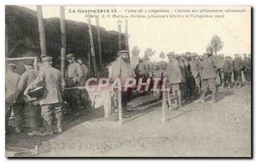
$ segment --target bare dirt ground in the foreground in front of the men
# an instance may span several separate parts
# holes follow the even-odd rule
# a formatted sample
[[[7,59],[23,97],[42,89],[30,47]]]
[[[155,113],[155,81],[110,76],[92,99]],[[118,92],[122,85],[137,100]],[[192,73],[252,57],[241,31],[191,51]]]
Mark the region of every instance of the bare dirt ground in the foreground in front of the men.
[[[251,90],[218,90],[215,104],[191,101],[167,111],[161,124],[161,103],[152,94],[132,101],[129,119],[118,126],[117,115],[103,119],[103,110],[84,111],[63,121],[60,135],[7,136],[9,146],[39,146],[39,157],[250,157]],[[139,105],[148,101],[146,105]],[[132,107],[135,105],[135,107]],[[26,145],[26,146],[25,146]]]

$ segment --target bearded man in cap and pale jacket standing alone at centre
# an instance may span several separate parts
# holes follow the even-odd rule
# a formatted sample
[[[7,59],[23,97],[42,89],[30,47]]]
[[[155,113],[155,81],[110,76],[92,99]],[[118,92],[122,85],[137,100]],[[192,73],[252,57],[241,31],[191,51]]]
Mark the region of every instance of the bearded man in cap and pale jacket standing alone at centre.
[[[125,118],[129,118],[130,114],[127,112],[127,104],[131,95],[131,89],[125,91],[124,85],[126,78],[135,78],[135,72],[131,69],[129,64],[129,52],[128,50],[120,50],[118,52],[119,57],[113,61],[112,64],[112,75],[109,76],[111,80],[119,78],[122,86],[122,107],[123,115]],[[114,90],[113,94],[114,111],[117,113],[118,110],[118,91]]]

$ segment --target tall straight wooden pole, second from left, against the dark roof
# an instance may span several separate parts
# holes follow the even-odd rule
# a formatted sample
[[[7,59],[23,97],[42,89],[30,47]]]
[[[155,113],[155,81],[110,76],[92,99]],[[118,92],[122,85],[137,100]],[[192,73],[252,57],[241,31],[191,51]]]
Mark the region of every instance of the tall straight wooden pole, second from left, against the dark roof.
[[[65,76],[65,57],[66,57],[66,27],[65,27],[65,8],[61,6],[61,74]]]

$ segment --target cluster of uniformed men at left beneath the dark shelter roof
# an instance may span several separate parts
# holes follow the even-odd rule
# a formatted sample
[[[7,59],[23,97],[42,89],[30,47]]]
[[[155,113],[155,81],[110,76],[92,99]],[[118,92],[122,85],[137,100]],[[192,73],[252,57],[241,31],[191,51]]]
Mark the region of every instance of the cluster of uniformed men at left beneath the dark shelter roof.
[[[16,71],[17,65],[9,63],[5,76],[5,127],[8,130],[9,117],[13,112],[15,115],[15,132],[20,133],[24,107],[28,109],[32,117],[32,132],[28,136],[49,136],[54,132],[61,133],[61,107],[62,101],[69,103],[73,116],[79,115],[81,108],[81,95],[84,91],[72,90],[65,93],[64,87],[84,85],[89,75],[88,68],[83,64],[82,59],[75,61],[73,54],[67,55],[69,65],[67,75],[64,77],[61,72],[52,66],[52,57],[42,58],[42,64],[34,68],[34,61],[25,61],[26,71],[19,75]],[[40,97],[32,97],[30,91],[42,88]],[[39,111],[39,113],[38,113]],[[42,117],[40,118],[40,113]],[[38,115],[39,114],[39,115]],[[44,129],[39,127],[42,119]],[[54,120],[56,128],[53,129]],[[8,133],[8,132],[7,132]]]

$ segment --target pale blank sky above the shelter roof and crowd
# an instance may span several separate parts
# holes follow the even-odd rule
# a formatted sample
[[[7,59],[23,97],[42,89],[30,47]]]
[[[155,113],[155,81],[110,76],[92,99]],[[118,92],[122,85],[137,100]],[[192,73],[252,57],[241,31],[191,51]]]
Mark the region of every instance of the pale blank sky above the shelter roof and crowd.
[[[23,6],[36,10],[36,6]],[[151,61],[160,61],[159,54],[174,51],[182,54],[186,51],[196,52],[202,55],[206,52],[207,44],[212,36],[217,34],[224,43],[224,48],[218,54],[234,55],[251,53],[251,14],[249,6],[65,6],[65,16],[67,20],[83,21],[87,23],[84,13],[79,13],[82,9],[117,9],[119,14],[131,15],[133,10],[143,9],[170,9],[172,14],[188,14],[181,12],[186,9],[245,9],[244,13],[228,13],[223,18],[199,19],[199,18],[129,18],[128,33],[129,46],[132,49],[137,46],[140,49],[140,56],[143,57],[147,48],[155,50],[155,55]],[[70,13],[75,10],[76,13]],[[134,13],[133,15],[137,15]],[[153,15],[154,13],[143,13],[143,15]],[[202,13],[207,14],[207,13]],[[223,13],[220,13],[222,15]],[[111,14],[112,16],[113,14]],[[155,14],[154,14],[155,15]],[[189,13],[191,15],[191,12]],[[59,6],[43,6],[44,18],[60,17]],[[122,20],[122,32],[125,32],[125,19],[105,18],[100,16],[100,26],[107,31],[118,30],[117,21]],[[91,19],[95,25],[95,19]],[[167,59],[167,58],[166,58]]]

